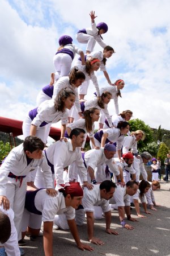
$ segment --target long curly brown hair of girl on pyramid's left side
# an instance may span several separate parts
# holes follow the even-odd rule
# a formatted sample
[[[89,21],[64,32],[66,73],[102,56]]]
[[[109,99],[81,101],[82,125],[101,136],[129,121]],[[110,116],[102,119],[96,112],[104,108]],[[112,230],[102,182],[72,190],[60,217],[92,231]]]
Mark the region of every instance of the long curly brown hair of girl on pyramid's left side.
[[[57,96],[54,100],[54,108],[56,109],[56,111],[57,110],[61,111],[61,112],[64,111],[65,104],[64,104],[63,100],[70,97],[71,94],[75,95],[73,90],[71,90],[70,88],[63,88],[59,91],[59,93],[57,94]]]

